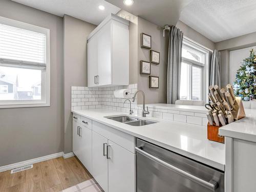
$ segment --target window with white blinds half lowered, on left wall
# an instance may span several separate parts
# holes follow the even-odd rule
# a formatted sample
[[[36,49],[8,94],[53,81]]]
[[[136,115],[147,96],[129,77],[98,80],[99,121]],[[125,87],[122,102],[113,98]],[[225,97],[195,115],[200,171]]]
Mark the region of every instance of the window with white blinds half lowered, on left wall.
[[[50,105],[49,29],[0,17],[0,108]]]

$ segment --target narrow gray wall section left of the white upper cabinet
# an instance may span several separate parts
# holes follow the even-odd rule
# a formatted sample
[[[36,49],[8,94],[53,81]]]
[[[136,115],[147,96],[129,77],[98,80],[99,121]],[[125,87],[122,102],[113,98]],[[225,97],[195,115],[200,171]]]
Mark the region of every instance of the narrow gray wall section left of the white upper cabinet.
[[[65,15],[64,31],[64,153],[72,152],[71,86],[87,86],[87,36],[95,25]]]

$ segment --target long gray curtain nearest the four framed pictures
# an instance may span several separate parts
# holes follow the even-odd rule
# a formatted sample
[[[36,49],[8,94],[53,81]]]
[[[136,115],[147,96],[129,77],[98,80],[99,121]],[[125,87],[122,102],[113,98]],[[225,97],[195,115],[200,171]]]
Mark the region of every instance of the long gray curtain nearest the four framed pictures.
[[[170,28],[167,58],[167,103],[180,99],[180,70],[183,32],[175,26]]]

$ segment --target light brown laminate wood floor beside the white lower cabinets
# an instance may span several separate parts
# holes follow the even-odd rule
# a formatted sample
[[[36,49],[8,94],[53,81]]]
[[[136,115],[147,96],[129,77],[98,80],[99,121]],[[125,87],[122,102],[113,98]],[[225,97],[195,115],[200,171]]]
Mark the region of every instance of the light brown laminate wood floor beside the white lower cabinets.
[[[93,178],[76,157],[35,163],[33,168],[0,173],[1,192],[55,192]]]

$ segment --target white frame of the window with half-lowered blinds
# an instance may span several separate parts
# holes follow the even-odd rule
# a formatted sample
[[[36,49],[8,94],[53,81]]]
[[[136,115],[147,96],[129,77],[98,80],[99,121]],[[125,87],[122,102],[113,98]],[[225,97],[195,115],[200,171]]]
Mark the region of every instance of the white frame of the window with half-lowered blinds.
[[[35,25],[18,22],[17,20],[0,16],[0,23],[46,35],[46,69],[41,70],[40,100],[0,100],[0,108],[26,108],[35,106],[50,106],[50,30]],[[33,69],[33,68],[29,68]]]

